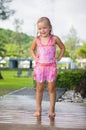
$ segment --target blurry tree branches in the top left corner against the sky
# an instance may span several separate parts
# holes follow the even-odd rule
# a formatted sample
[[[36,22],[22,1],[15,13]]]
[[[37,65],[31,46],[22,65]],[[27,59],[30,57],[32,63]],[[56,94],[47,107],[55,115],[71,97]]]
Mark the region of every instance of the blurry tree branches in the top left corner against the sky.
[[[15,13],[14,10],[11,10],[9,8],[10,2],[12,2],[12,0],[0,0],[0,19],[1,20],[6,20]]]

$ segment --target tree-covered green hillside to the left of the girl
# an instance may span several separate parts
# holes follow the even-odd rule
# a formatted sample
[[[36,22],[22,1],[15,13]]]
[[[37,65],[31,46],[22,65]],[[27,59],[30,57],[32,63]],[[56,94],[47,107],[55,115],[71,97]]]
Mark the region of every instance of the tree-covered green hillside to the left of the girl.
[[[0,28],[0,55],[23,58],[30,56],[28,48],[33,38],[24,33]]]

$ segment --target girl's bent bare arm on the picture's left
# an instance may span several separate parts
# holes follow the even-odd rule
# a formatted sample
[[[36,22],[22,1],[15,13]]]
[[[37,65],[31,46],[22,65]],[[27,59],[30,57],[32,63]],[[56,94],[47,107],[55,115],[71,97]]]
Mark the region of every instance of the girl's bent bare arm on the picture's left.
[[[33,40],[32,45],[30,47],[31,55],[32,55],[32,57],[34,58],[35,61],[37,60],[36,53],[35,53],[36,47],[37,47],[37,38],[35,38]]]

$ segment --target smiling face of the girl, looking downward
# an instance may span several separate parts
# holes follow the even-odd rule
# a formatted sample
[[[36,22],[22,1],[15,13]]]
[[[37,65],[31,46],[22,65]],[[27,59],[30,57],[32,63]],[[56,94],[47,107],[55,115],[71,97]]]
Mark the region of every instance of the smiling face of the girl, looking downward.
[[[42,37],[48,37],[50,35],[51,28],[45,21],[37,24],[38,33]]]

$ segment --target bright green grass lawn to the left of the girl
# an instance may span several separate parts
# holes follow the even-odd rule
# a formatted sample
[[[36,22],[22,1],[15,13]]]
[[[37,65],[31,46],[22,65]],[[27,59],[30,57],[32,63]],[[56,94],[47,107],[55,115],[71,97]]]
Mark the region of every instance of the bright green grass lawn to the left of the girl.
[[[24,77],[27,70],[22,71],[21,77],[17,77],[18,70],[1,70],[3,79],[0,79],[0,95],[7,94],[13,90],[23,87],[33,87],[33,74],[30,77]]]

